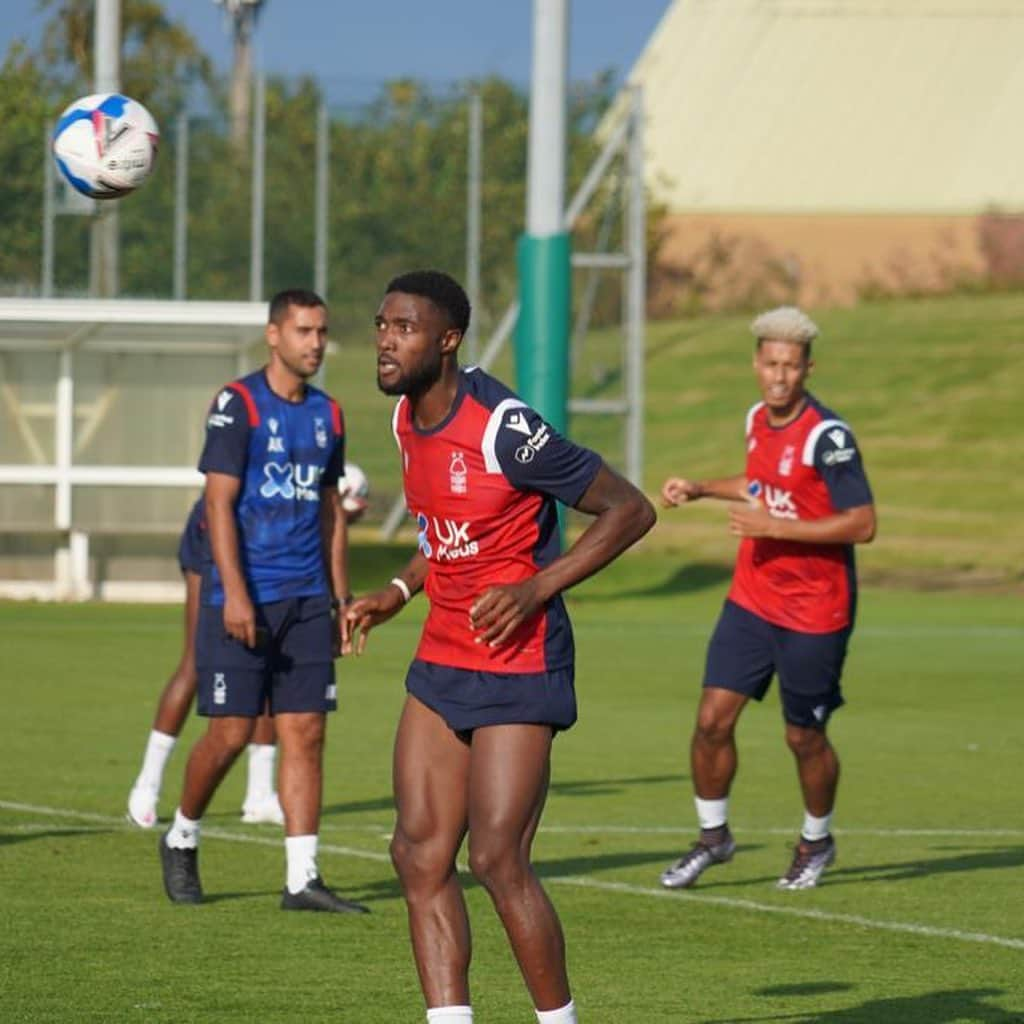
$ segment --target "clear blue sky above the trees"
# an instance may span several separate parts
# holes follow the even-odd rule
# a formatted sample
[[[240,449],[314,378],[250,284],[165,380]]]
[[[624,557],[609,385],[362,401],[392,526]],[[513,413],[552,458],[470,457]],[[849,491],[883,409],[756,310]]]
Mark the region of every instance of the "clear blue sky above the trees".
[[[671,0],[573,0],[569,74],[629,71]],[[4,0],[0,53],[35,38],[36,0]],[[221,11],[212,0],[164,0],[218,66],[230,61]],[[356,98],[388,78],[435,83],[500,75],[525,84],[531,0],[265,0],[256,35],[259,63],[307,73],[335,98]]]

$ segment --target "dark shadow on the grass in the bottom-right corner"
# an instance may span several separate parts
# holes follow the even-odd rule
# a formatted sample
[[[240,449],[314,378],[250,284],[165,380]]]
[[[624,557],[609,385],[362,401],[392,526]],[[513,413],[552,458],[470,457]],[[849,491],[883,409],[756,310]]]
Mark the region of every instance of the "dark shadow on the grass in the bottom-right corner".
[[[834,983],[836,987],[827,991],[843,991],[851,985]],[[781,986],[798,989],[800,986]],[[821,994],[814,989],[808,995]],[[756,995],[774,994],[770,990],[756,992]],[[804,994],[793,991],[781,994]],[[949,991],[928,992],[925,995],[901,995],[886,999],[868,999],[857,1007],[844,1010],[814,1010],[793,1014],[766,1014],[757,1017],[707,1017],[694,1024],[760,1024],[767,1021],[792,1021],[794,1024],[1021,1024],[1024,1015],[1012,1010],[1002,1010],[984,1002],[986,998],[1005,995],[1001,988],[962,988]]]

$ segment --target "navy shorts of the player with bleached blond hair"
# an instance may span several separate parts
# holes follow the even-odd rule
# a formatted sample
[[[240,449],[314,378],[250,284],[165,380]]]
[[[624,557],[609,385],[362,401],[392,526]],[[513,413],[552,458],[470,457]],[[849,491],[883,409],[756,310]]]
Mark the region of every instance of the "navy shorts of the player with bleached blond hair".
[[[840,677],[850,632],[787,630],[726,601],[708,644],[703,685],[762,700],[777,674],[785,720],[822,728],[844,702]]]

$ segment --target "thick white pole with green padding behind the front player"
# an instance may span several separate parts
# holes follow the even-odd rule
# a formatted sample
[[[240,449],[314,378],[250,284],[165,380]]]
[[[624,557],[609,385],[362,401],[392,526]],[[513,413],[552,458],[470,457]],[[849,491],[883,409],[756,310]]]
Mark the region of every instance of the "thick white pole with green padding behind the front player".
[[[565,228],[568,0],[534,0],[526,232],[519,239],[519,393],[559,432],[568,421],[570,243]]]

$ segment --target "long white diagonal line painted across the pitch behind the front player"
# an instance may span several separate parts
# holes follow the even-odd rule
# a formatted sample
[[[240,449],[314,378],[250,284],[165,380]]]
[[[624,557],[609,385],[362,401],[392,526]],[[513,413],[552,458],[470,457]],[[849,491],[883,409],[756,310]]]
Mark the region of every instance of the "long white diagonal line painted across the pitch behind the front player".
[[[0,800],[0,809],[20,811],[27,814],[41,814],[47,817],[73,818],[81,821],[92,821],[96,824],[119,825],[125,829],[130,826],[123,818],[109,814],[96,814],[91,811],[75,811],[58,807],[41,807],[37,804],[20,804]],[[928,835],[932,835],[932,830]],[[953,833],[961,835],[962,833]],[[232,843],[251,843],[255,846],[271,846],[281,848],[280,839],[264,839],[259,836],[246,836],[240,833],[225,831],[222,828],[204,828],[203,835],[211,839],[222,839]],[[948,835],[940,833],[940,835]],[[974,833],[970,835],[988,835]],[[390,861],[386,853],[372,850],[358,850],[348,846],[324,844],[319,847],[323,853],[333,853],[343,857],[358,857],[364,860],[378,862]],[[852,913],[834,913],[827,910],[814,910],[798,906],[783,906],[776,903],[758,903],[755,900],[734,899],[729,896],[711,896],[700,893],[668,891],[645,886],[634,886],[627,882],[602,882],[598,879],[581,876],[545,876],[544,882],[559,886],[574,886],[578,889],[597,889],[603,892],[625,893],[630,896],[647,896],[655,899],[686,900],[693,903],[710,903],[714,906],[724,906],[735,910],[749,910],[755,913],[780,913],[791,918],[801,918],[805,921],[821,921],[826,924],[854,925],[858,928],[874,929],[882,932],[900,932],[909,935],[923,935],[932,939],[956,939],[962,942],[978,942],[987,945],[1002,946],[1007,949],[1024,950],[1024,939],[1008,939],[998,935],[987,935],[984,932],[964,932],[955,928],[934,928],[930,925],[911,925],[900,921],[878,921],[873,918],[862,918]]]

